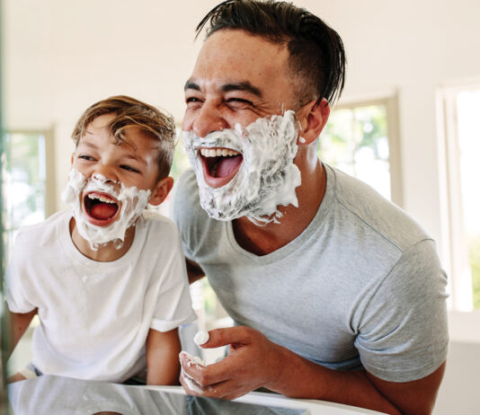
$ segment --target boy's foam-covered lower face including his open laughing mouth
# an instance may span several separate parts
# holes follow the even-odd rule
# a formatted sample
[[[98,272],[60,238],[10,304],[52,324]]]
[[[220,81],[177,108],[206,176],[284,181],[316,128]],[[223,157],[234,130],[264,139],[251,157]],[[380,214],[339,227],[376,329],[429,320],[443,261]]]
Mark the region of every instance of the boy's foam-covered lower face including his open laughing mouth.
[[[87,180],[75,168],[62,193],[62,200],[74,208],[78,233],[93,250],[110,242],[120,249],[127,229],[135,224],[149,198],[150,190],[128,188],[102,174],[93,174]]]

